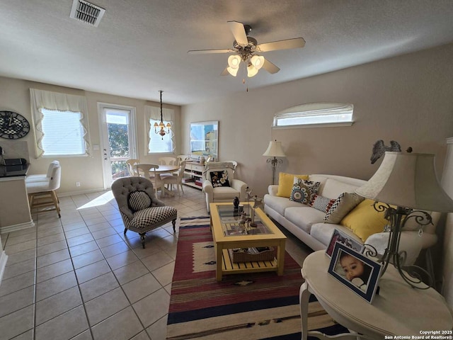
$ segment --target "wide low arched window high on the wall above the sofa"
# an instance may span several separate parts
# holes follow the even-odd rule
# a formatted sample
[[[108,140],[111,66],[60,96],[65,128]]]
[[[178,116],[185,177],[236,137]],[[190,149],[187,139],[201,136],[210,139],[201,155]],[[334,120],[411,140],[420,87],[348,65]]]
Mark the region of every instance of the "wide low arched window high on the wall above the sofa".
[[[288,108],[274,117],[273,128],[316,128],[352,125],[352,104],[307,103]]]

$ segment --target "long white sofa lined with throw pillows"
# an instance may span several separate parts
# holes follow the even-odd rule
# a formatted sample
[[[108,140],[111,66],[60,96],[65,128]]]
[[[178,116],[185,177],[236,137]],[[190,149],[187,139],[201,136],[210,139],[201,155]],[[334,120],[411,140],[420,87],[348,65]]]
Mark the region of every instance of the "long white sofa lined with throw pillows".
[[[353,179],[345,176],[328,174],[313,174],[309,181],[321,182],[318,194],[327,198],[338,198],[341,193],[354,193],[355,189],[362,186],[366,181]],[[350,235],[360,243],[374,246],[379,254],[383,254],[389,239],[388,232],[379,232],[369,236],[365,242],[357,237],[350,229],[343,225],[324,223],[325,212],[311,208],[309,205],[297,203],[286,197],[277,195],[277,185],[269,186],[268,194],[264,196],[264,210],[266,214],[294,234],[304,244],[313,250],[326,249],[331,240],[333,230]],[[423,228],[423,234],[419,234],[417,225],[407,225],[401,233],[400,251],[407,252],[406,264],[413,264],[426,244],[434,244],[437,241],[435,224],[440,214],[433,214],[434,225]],[[414,220],[414,219],[411,219]]]

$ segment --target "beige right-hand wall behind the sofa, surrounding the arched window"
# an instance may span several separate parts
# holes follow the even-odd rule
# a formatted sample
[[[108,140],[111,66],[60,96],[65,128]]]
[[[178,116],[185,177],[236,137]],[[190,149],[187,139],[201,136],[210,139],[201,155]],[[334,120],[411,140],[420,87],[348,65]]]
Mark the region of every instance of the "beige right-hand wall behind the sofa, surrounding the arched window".
[[[183,106],[182,126],[219,120],[219,159],[236,159],[239,176],[258,196],[271,179],[262,156],[271,138],[287,154],[280,171],[369,179],[380,164],[369,162],[374,142],[396,140],[403,150],[435,154],[440,177],[453,131],[452,60],[453,45],[445,45],[248,92],[234,79],[237,94]],[[320,101],[354,104],[354,125],[271,130],[278,111]],[[188,152],[188,129],[182,133],[181,150]]]

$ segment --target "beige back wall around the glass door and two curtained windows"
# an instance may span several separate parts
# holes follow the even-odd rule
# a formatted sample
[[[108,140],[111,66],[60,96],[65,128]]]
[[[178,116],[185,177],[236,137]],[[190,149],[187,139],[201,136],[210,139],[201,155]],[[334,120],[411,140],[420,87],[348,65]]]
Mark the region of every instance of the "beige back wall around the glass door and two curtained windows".
[[[18,113],[21,113],[31,123],[30,88],[86,96],[88,102],[91,145],[101,145],[101,137],[98,124],[98,102],[118,104],[123,106],[134,106],[137,112],[138,157],[144,162],[157,161],[157,158],[159,156],[146,155],[147,145],[145,144],[146,132],[144,126],[146,125],[144,119],[144,106],[160,106],[159,103],[120,96],[110,96],[108,94],[99,94],[96,92],[81,91],[78,89],[69,89],[61,86],[36,83],[33,81],[0,77],[0,110],[16,111]],[[175,110],[175,154],[179,154],[180,106],[171,106],[164,104],[164,107],[173,108]],[[52,161],[52,159],[58,159],[62,164],[62,182],[58,190],[59,194],[98,191],[103,189],[103,160],[101,157],[101,149],[93,150],[92,157],[42,157],[41,159],[35,159],[33,137],[34,135],[32,131],[22,139],[28,142],[28,151],[30,154],[29,161],[31,164],[29,174],[46,173],[47,166]],[[6,143],[4,142],[4,144]],[[0,140],[0,146],[2,146],[2,140]],[[8,152],[6,145],[3,146],[6,152]],[[76,187],[76,181],[79,181],[81,183],[80,187]]]

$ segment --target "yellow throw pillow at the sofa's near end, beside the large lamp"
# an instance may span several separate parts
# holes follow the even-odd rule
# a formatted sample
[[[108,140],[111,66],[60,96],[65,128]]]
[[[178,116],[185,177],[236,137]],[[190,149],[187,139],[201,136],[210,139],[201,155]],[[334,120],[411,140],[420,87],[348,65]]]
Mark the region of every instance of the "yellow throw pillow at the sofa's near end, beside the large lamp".
[[[363,242],[370,235],[383,232],[387,220],[384,218],[384,212],[377,212],[373,205],[374,200],[364,200],[343,217],[340,225],[351,229]]]

